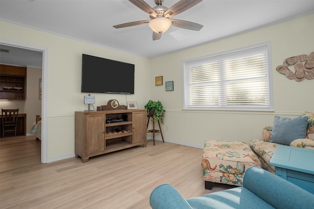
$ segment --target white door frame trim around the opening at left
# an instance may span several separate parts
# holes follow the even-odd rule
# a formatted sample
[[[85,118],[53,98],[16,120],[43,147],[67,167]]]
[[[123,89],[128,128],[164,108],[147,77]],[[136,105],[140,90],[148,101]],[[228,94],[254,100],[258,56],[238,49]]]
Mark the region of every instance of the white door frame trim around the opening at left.
[[[11,64],[11,65],[23,65],[23,66],[34,66],[34,64],[27,64],[27,61],[34,61],[32,58],[36,55],[41,56],[41,68],[42,68],[42,100],[41,100],[41,116],[42,116],[42,130],[41,130],[41,163],[47,163],[47,107],[48,107],[48,96],[47,96],[47,88],[48,88],[48,66],[47,66],[47,59],[48,59],[48,49],[38,46],[29,46],[20,43],[14,42],[7,42],[7,41],[0,41],[0,46],[18,49],[17,51],[26,52],[23,56],[15,55],[16,57],[11,57],[10,59],[2,54],[1,52],[1,64]],[[20,49],[20,50],[19,50]],[[3,56],[2,56],[3,55]],[[7,58],[7,59],[6,59]],[[17,59],[19,58],[19,59]],[[16,61],[14,61],[16,60]],[[18,62],[19,60],[19,62]],[[25,64],[22,64],[25,63]],[[27,96],[26,96],[27,98]],[[26,107],[27,108],[27,107]],[[28,117],[35,117],[35,116],[28,116]],[[29,130],[26,130],[26,133]]]

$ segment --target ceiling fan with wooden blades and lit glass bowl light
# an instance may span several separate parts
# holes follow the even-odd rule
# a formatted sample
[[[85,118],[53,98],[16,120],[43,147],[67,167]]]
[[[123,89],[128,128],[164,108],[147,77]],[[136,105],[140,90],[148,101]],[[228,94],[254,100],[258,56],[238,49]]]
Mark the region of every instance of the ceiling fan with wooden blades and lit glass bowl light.
[[[155,41],[159,40],[161,38],[161,34],[167,31],[171,25],[197,31],[203,27],[203,25],[198,23],[169,19],[195,6],[202,0],[180,0],[169,9],[165,6],[162,6],[164,0],[155,0],[157,6],[155,6],[154,8],[148,5],[144,0],[129,0],[129,1],[131,1],[131,3],[133,3],[135,6],[146,12],[150,17],[150,20],[117,24],[113,25],[114,28],[129,27],[148,23],[149,27],[152,28],[153,30],[153,40]]]

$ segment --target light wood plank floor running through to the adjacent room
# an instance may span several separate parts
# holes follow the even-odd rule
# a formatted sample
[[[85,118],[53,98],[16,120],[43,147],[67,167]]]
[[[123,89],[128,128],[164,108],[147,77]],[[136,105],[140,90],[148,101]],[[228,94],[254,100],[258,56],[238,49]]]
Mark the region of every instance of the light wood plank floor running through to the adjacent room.
[[[0,208],[150,209],[160,184],[185,198],[230,188],[204,188],[202,149],[149,140],[147,147],[108,153],[88,163],[70,158],[42,164],[33,136],[0,139]]]

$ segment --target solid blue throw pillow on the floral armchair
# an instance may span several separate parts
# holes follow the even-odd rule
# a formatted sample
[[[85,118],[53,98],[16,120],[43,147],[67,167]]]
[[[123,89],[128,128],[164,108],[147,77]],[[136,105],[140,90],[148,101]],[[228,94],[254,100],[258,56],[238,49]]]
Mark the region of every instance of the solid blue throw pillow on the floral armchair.
[[[296,117],[293,119],[275,116],[269,141],[290,145],[295,139],[305,139],[308,120],[308,116]]]

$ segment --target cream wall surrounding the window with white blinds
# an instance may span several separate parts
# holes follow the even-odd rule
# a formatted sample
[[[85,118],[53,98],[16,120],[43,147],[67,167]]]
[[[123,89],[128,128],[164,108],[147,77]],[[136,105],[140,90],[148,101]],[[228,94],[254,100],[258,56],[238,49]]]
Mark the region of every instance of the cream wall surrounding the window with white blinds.
[[[276,71],[286,58],[314,51],[313,23],[314,14],[311,14],[152,59],[151,83],[160,75],[163,82],[174,81],[173,92],[165,92],[164,85],[151,85],[152,99],[162,101],[167,110],[164,138],[199,147],[206,139],[249,142],[261,138],[262,128],[272,125],[275,115],[292,118],[303,111],[314,111],[314,80],[296,82]],[[182,110],[184,60],[268,41],[272,53],[274,112]]]

